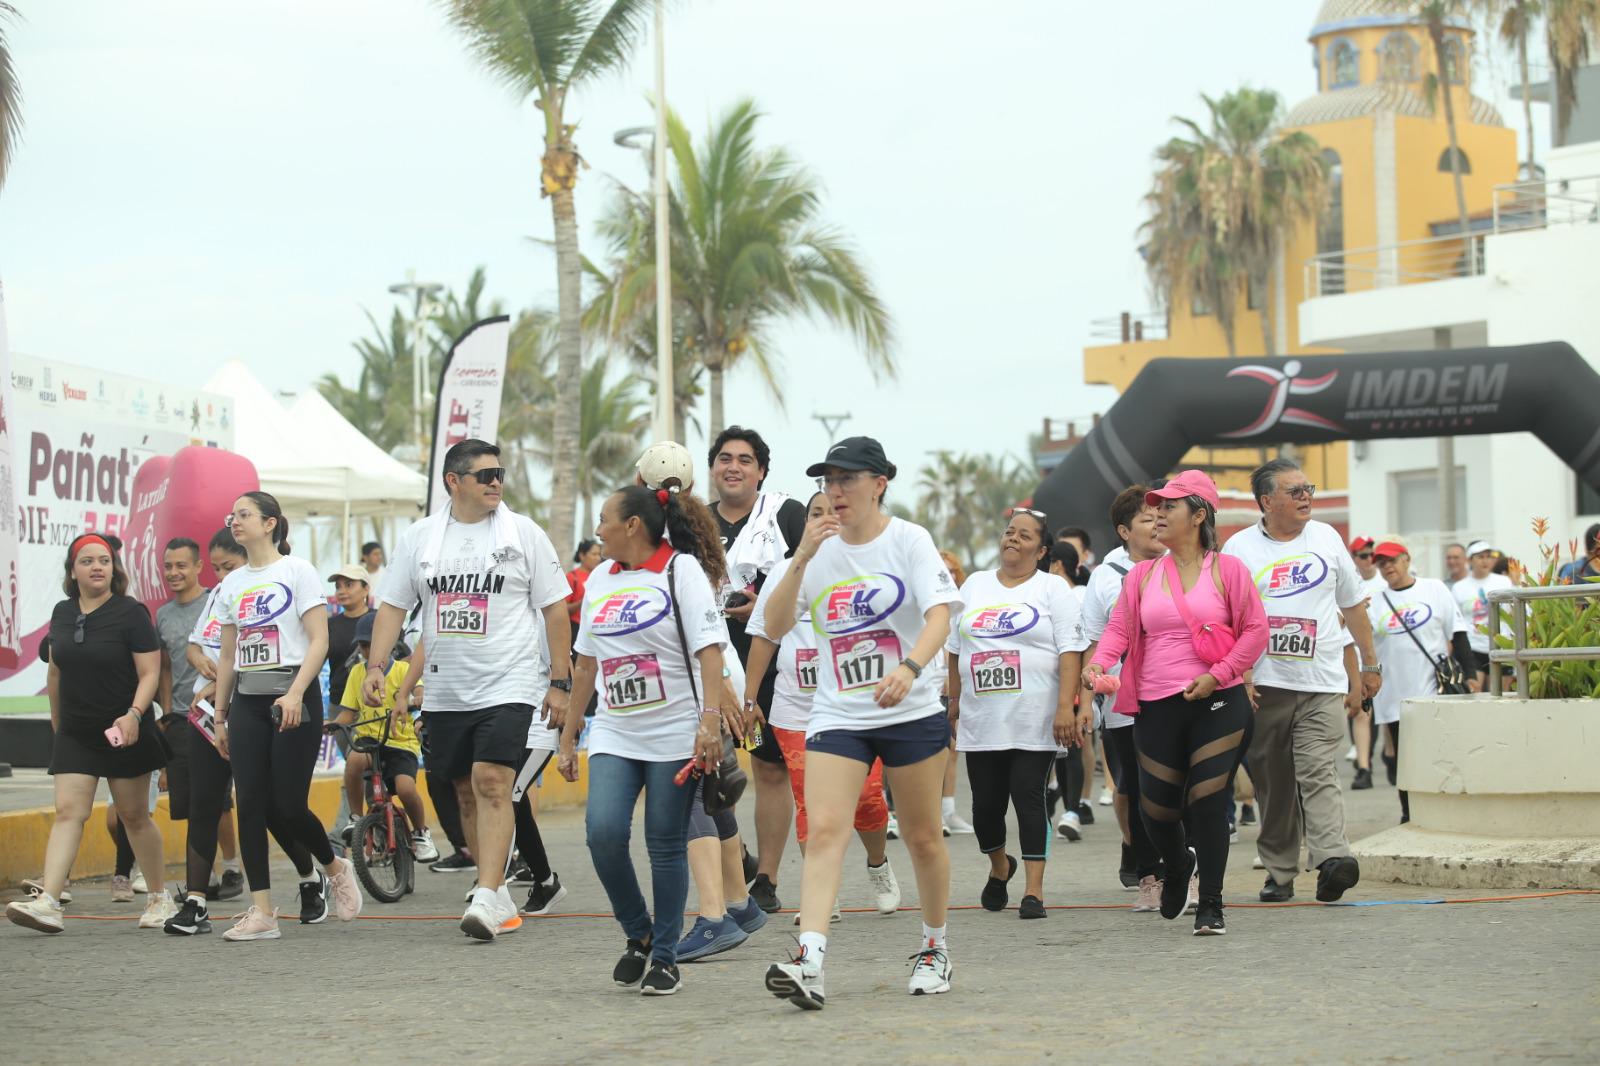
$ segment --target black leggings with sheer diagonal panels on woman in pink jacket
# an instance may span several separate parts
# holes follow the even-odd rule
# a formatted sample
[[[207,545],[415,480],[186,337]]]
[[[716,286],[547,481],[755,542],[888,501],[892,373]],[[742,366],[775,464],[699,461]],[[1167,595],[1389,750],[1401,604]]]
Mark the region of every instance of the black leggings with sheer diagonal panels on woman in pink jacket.
[[[1219,688],[1194,703],[1182,693],[1141,699],[1133,723],[1144,829],[1166,863],[1168,877],[1189,866],[1186,836],[1192,837],[1205,898],[1222,898],[1234,771],[1250,747],[1253,727],[1243,685]]]

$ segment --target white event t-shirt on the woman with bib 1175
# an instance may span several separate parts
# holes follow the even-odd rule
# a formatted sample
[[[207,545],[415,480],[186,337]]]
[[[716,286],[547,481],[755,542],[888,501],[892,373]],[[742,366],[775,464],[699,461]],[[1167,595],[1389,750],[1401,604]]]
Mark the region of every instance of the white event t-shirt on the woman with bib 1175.
[[[259,570],[240,567],[218,586],[213,603],[222,624],[238,629],[234,637],[234,669],[238,671],[304,663],[310,637],[301,616],[317,608],[328,610],[322,578],[299,555],[278,555]]]

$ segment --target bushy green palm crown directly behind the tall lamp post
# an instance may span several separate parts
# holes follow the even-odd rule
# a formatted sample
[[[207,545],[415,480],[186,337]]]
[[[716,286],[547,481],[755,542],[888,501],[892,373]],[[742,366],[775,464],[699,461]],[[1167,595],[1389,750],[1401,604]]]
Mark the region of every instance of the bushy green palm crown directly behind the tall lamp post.
[[[723,416],[723,376],[749,362],[782,405],[774,328],[814,317],[851,333],[874,376],[894,375],[894,327],[845,234],[821,219],[822,190],[784,149],[758,149],[762,118],[741,99],[696,146],[677,115],[667,141],[677,170],[669,190],[675,330],[709,376],[710,423]],[[614,262],[610,325],[637,330],[656,287],[653,203],[626,194],[603,222]]]

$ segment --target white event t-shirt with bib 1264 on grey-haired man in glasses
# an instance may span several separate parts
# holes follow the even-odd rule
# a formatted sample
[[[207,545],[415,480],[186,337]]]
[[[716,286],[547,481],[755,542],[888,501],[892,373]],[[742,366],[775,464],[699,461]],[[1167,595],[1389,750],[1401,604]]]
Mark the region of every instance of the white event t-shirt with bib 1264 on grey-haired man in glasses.
[[[1245,563],[1267,611],[1267,650],[1256,685],[1290,691],[1349,691],[1341,611],[1368,599],[1344,538],[1312,519],[1299,536],[1275,541],[1261,522],[1227,539],[1224,555]]]

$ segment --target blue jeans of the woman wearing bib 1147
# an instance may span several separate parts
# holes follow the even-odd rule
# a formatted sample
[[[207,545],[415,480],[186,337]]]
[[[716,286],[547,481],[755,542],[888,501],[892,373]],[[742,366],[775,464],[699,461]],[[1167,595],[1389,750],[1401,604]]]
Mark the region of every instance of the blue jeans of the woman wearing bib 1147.
[[[611,900],[611,911],[629,940],[650,941],[650,957],[674,964],[683,935],[683,904],[690,895],[690,804],[694,784],[674,784],[677,762],[643,762],[621,755],[589,759],[589,807],[584,826],[595,874]],[[650,853],[650,885],[656,904],[651,920],[645,893],[634,872],[627,842],[634,832],[634,805],[645,792],[645,852]]]

